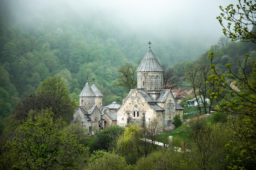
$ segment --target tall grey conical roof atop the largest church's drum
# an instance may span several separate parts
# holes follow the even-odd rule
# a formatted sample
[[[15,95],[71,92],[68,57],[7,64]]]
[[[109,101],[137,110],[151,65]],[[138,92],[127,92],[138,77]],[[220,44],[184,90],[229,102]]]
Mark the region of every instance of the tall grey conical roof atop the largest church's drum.
[[[139,64],[137,72],[164,72],[150,47],[143,60]]]

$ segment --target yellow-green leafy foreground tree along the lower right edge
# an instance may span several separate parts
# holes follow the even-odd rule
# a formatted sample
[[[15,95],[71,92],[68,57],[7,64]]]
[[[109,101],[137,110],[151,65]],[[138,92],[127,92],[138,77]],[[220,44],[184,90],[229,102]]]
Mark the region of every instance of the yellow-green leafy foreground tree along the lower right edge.
[[[214,56],[211,53],[211,62]],[[231,64],[226,64],[228,73],[220,74],[216,65],[212,64],[214,74],[209,76],[215,81],[215,92],[211,94],[222,101],[218,109],[232,115],[228,124],[234,130],[234,139],[227,144],[230,150],[228,158],[231,169],[250,169],[256,166],[256,62],[252,66],[252,72],[246,73],[247,57],[242,65],[238,62],[240,71],[235,74]],[[230,86],[235,82],[239,90]]]

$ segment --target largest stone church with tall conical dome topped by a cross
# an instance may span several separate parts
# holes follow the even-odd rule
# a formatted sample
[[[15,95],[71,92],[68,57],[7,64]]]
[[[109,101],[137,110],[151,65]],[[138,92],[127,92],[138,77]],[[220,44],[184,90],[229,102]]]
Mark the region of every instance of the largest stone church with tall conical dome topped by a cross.
[[[182,117],[183,108],[177,104],[171,90],[163,89],[163,73],[164,70],[149,46],[137,68],[137,88],[130,90],[123,104],[117,109],[118,125],[146,126],[155,118],[163,127],[162,132],[175,128],[173,117],[178,114]]]

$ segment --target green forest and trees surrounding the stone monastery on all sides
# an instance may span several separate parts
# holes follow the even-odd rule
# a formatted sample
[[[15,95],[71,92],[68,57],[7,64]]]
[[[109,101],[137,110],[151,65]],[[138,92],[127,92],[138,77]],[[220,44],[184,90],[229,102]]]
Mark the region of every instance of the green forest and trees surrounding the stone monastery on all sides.
[[[109,24],[110,19],[104,18],[104,13],[83,16],[72,15],[72,11],[71,14],[56,11],[55,15],[47,12],[44,15],[29,15],[25,9],[20,13],[10,13],[8,5],[7,1],[1,2],[0,13],[0,144],[4,146],[0,150],[1,168],[34,169],[39,164],[42,166],[38,169],[75,167],[89,170],[114,165],[130,170],[165,169],[166,166],[184,170],[191,167],[255,168],[255,158],[252,157],[256,153],[255,42],[231,41],[233,37],[221,36],[216,44],[203,46],[198,45],[204,44],[201,39],[177,41],[150,37],[146,31],[136,33],[125,28],[117,29],[122,25],[117,22]],[[18,15],[24,15],[23,19]],[[255,24],[250,29],[255,32]],[[194,89],[194,94],[189,97],[196,97],[204,85],[204,97],[218,100],[212,106],[220,105],[217,108],[219,115],[216,114],[212,120],[214,124],[205,120],[190,124],[188,133],[191,142],[187,148],[192,152],[162,150],[137,141],[150,133],[148,129],[139,131],[137,126],[129,126],[126,130],[113,126],[99,132],[101,138],[88,139],[79,126],[69,124],[87,81],[90,85],[95,82],[103,94],[103,106],[114,101],[122,103],[128,91],[118,86],[119,68],[126,63],[135,67],[138,65],[148,49],[148,41],[152,41],[148,37],[153,39],[151,48],[159,62],[172,69],[172,76],[178,82],[177,88],[184,91]],[[202,75],[192,75],[202,71],[202,66],[206,66],[207,73],[205,79],[198,79],[198,82],[208,84],[195,84],[193,78]],[[210,71],[210,68],[213,70]],[[227,88],[225,83],[234,79],[240,82],[236,85],[245,91],[238,93]],[[49,88],[54,90],[48,93]],[[182,101],[182,106],[186,104],[186,99]],[[229,124],[227,117],[224,123],[220,121],[222,113],[231,117]],[[234,116],[240,114],[245,117]],[[196,143],[198,139],[201,141]],[[202,144],[204,141],[205,146]],[[132,144],[136,145],[133,142],[137,142],[138,146],[131,149]],[[39,143],[41,145],[37,150]],[[204,161],[195,159],[200,154],[202,156],[202,150],[206,149],[201,146],[213,151],[204,152],[204,156],[208,157],[204,157]],[[225,151],[224,146],[228,148]],[[250,153],[247,154],[248,150],[243,147],[250,148]],[[36,155],[34,158],[26,159],[28,148],[32,148],[29,151],[31,155]],[[19,160],[13,165],[15,155],[19,155]],[[169,156],[162,158],[161,155]],[[145,166],[149,162],[151,167]],[[102,163],[106,163],[106,167]]]

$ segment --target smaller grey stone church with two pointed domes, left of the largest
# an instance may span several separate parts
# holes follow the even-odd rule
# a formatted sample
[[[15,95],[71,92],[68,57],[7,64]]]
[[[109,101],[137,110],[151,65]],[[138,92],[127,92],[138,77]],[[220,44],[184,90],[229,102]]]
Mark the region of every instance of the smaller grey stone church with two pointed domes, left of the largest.
[[[86,82],[79,95],[79,106],[73,113],[72,123],[80,122],[88,133],[117,124],[117,108],[119,104],[113,102],[102,106],[103,95],[93,83]]]

